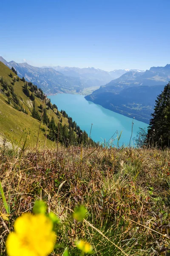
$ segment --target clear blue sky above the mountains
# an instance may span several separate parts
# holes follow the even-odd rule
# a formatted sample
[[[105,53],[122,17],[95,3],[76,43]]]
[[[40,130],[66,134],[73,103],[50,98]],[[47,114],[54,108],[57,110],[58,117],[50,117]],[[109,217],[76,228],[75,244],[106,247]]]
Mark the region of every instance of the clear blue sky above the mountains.
[[[1,0],[0,55],[34,66],[170,63],[170,0]]]

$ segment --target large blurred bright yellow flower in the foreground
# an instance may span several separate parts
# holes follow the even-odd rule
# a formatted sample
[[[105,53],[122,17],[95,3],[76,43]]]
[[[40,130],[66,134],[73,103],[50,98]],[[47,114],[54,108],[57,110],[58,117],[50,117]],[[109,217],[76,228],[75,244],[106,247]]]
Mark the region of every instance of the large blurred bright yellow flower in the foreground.
[[[44,214],[23,214],[14,223],[15,232],[8,235],[8,256],[47,256],[56,242],[52,228],[52,221]]]

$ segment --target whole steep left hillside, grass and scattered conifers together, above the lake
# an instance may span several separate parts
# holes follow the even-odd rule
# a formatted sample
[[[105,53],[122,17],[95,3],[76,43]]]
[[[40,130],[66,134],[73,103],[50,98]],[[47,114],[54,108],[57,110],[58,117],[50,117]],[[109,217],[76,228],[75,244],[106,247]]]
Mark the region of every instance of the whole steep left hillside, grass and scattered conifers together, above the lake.
[[[85,144],[89,141],[87,133],[80,130],[65,111],[59,112],[41,89],[20,79],[16,71],[13,71],[0,62],[1,144],[2,137],[18,145],[21,138],[24,141],[28,135],[28,144],[35,146],[42,113],[39,145],[44,145],[46,139],[46,145],[54,147],[56,141],[65,145]],[[91,139],[90,142],[93,143]]]

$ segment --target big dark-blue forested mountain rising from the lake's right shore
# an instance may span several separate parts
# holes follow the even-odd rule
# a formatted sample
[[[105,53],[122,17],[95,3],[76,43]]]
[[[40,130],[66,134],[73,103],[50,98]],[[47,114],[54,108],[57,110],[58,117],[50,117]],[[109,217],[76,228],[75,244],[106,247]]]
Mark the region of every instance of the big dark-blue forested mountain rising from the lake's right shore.
[[[85,98],[125,116],[149,122],[156,96],[170,81],[170,64],[145,72],[129,71]]]

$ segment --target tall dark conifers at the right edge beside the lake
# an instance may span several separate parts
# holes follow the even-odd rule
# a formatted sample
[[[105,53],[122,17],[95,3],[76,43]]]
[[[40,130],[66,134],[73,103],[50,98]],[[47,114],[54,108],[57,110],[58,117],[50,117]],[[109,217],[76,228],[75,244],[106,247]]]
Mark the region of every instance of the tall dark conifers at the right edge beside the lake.
[[[170,82],[157,97],[148,128],[147,143],[161,148],[170,147]]]

